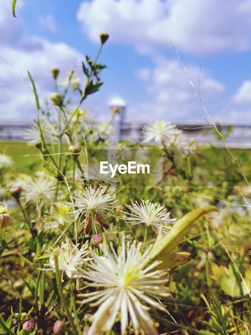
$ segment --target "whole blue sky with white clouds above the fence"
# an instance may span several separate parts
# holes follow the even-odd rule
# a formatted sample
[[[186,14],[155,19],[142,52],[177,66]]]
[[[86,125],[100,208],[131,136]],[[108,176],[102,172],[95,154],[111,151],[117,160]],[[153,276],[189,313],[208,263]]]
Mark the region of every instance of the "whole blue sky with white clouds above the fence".
[[[98,35],[110,39],[100,62],[104,85],[83,107],[101,119],[114,96],[128,104],[126,119],[205,123],[188,77],[169,42],[178,50],[208,112],[222,124],[250,124],[251,4],[246,0],[17,0],[0,2],[0,118],[34,119],[27,70],[41,100],[53,91],[50,69],[61,79],[84,55],[94,57]],[[12,65],[8,65],[6,62]],[[81,77],[84,85],[84,78]]]

